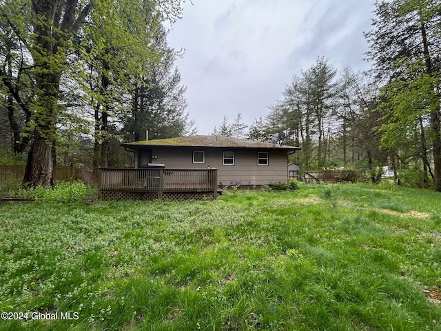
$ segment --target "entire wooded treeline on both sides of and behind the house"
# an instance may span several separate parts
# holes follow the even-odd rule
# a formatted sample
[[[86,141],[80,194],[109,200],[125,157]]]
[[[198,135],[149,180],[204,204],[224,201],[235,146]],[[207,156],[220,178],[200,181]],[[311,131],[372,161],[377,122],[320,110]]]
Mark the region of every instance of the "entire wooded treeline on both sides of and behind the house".
[[[27,155],[23,183],[56,163],[124,165],[121,141],[194,134],[165,22],[181,0],[0,1],[0,151]],[[367,72],[324,57],[294,74],[265,118],[214,134],[300,146],[303,170],[388,165],[441,190],[441,3],[377,1]]]

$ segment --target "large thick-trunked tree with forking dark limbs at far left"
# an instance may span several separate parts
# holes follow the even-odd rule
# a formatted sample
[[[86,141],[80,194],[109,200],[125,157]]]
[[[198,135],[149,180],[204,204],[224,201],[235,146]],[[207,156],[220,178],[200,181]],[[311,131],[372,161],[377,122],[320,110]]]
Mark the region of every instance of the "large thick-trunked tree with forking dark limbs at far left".
[[[2,78],[8,88],[8,99],[12,97],[14,103],[18,103],[28,117],[32,115],[33,141],[23,178],[26,185],[47,186],[52,183],[52,145],[58,116],[61,73],[65,69],[70,41],[88,17],[91,8],[90,2],[61,0],[34,0],[32,3],[17,0],[2,3],[1,38],[3,41],[11,41],[10,46],[14,42],[20,43],[23,52],[30,54],[32,64],[34,98],[30,106],[23,101],[20,93],[14,93],[17,88],[14,88],[12,81],[8,81],[11,75],[6,75],[6,79]],[[17,39],[8,37],[10,30],[4,29],[5,22],[12,28],[14,38]],[[2,49],[2,52],[6,58],[13,54],[12,48]],[[17,82],[15,81],[15,87]]]

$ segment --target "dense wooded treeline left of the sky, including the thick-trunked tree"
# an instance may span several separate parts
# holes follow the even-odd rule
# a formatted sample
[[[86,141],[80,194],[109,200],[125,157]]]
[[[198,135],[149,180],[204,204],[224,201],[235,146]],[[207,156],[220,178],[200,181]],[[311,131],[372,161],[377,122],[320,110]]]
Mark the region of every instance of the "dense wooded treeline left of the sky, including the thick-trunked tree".
[[[115,146],[145,130],[194,130],[164,27],[180,15],[181,0],[0,1],[0,147],[28,154],[23,183],[124,162]]]

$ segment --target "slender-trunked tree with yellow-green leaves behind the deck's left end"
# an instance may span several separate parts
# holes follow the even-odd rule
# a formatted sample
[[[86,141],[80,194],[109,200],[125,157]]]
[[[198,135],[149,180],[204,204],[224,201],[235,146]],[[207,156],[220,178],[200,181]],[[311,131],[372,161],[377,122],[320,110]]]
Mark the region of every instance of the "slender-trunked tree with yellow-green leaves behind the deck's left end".
[[[94,121],[94,170],[108,165],[110,126],[130,109],[132,86],[161,58],[152,47],[161,19],[153,1],[97,0],[77,40],[76,70]]]

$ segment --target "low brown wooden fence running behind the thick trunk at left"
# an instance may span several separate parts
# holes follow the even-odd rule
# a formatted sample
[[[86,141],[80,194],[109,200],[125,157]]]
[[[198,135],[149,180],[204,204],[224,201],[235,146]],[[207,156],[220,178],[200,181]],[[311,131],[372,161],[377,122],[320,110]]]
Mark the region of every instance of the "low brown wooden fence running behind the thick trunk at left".
[[[0,165],[0,184],[11,178],[23,178],[25,165]],[[86,184],[98,183],[98,176],[89,170],[60,166],[54,168],[55,181],[83,181]]]

